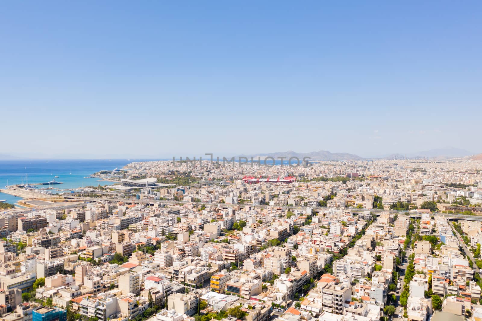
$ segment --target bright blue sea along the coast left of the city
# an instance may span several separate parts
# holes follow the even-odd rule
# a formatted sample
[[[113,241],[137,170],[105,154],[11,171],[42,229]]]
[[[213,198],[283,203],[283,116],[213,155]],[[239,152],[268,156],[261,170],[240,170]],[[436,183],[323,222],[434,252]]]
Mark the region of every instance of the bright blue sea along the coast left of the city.
[[[44,183],[56,180],[63,184],[52,185],[60,190],[69,190],[85,186],[112,185],[113,182],[99,181],[99,178],[84,178],[99,171],[112,171],[114,168],[122,169],[125,165],[134,161],[152,160],[14,160],[0,161],[0,188],[7,185]],[[59,176],[55,178],[54,176]],[[37,187],[49,187],[40,185]],[[57,189],[51,190],[55,194]],[[16,203],[21,198],[0,193],[0,200],[8,203]]]

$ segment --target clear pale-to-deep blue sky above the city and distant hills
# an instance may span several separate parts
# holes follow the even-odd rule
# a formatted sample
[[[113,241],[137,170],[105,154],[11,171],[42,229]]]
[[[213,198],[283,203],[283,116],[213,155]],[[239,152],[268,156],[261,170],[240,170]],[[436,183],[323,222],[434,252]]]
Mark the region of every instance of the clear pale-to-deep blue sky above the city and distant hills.
[[[4,154],[482,152],[481,1],[9,1]]]

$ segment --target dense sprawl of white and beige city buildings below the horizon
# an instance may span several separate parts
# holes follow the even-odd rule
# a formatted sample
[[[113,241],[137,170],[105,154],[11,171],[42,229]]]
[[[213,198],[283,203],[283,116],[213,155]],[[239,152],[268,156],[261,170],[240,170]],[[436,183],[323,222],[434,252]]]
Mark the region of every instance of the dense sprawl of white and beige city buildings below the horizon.
[[[2,189],[0,321],[481,320],[482,161],[303,165]]]

